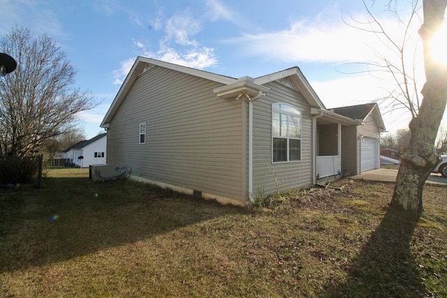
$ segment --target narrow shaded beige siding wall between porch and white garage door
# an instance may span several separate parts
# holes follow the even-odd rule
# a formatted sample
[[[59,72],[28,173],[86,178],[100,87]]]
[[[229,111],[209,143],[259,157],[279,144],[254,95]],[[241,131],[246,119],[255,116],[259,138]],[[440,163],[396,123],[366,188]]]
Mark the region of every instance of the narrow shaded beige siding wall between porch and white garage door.
[[[346,175],[358,174],[357,126],[342,126],[342,172]]]

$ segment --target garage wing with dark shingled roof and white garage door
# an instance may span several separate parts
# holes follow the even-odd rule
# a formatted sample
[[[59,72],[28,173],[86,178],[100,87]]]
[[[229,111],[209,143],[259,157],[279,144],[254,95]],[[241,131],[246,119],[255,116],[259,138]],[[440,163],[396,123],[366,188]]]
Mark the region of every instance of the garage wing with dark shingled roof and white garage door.
[[[385,124],[376,103],[336,107],[337,114],[355,119],[358,126],[344,126],[342,129],[342,164],[346,174],[360,174],[380,167],[380,133]],[[357,156],[356,163],[350,156]]]

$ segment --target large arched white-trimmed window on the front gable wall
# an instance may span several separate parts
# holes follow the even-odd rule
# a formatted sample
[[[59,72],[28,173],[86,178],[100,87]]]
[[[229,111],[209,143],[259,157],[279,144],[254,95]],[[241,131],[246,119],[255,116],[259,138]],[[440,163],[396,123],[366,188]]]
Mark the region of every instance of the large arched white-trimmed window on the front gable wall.
[[[272,104],[272,161],[301,161],[301,112],[286,103]]]

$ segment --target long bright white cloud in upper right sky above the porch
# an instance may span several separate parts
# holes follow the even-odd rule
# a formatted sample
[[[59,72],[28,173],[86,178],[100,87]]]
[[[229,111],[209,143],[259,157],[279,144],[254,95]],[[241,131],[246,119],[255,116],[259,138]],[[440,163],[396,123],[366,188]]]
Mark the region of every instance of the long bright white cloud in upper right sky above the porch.
[[[324,17],[326,16],[326,17]],[[370,22],[365,15],[354,17],[353,26],[370,29]],[[379,19],[381,25],[393,40],[399,41],[403,36],[403,28],[397,25],[393,17]],[[418,39],[415,24],[411,31],[416,38],[411,39],[409,47]],[[299,20],[293,22],[288,29],[280,31],[264,31],[261,33],[242,33],[242,36],[225,40],[227,43],[249,45],[244,47],[249,56],[258,56],[266,60],[284,62],[317,62],[343,63],[371,61],[376,53],[390,56],[390,47],[377,38],[374,33],[367,33],[351,27],[343,22],[341,15],[336,17],[319,15],[316,20]]]

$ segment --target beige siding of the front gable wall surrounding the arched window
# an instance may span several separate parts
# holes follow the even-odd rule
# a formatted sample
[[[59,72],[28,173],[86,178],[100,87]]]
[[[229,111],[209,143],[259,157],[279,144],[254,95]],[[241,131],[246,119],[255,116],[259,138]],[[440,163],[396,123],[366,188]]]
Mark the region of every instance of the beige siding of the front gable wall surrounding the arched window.
[[[265,188],[266,194],[312,185],[312,117],[310,106],[299,91],[279,82],[265,84],[270,92],[256,100],[253,117],[253,191]],[[288,103],[302,115],[301,161],[272,163],[272,103]]]

